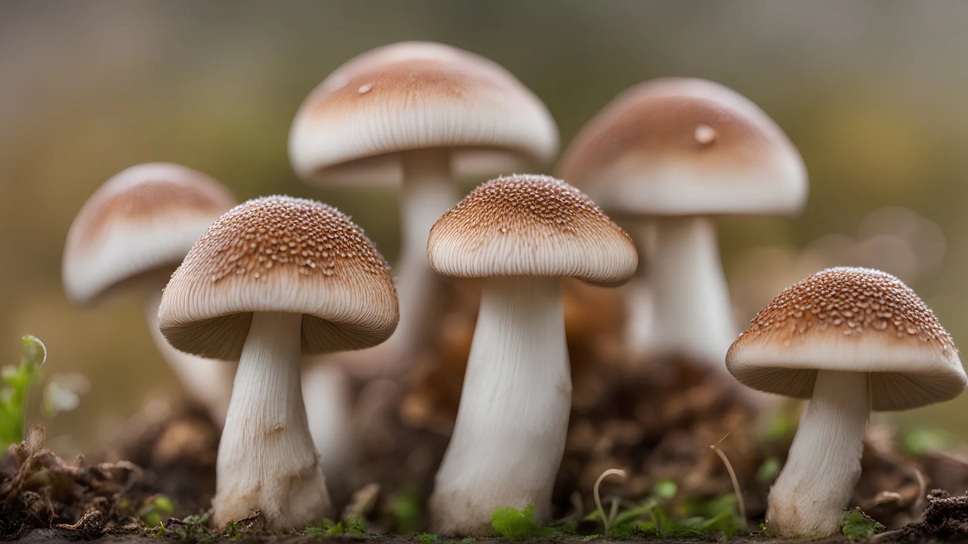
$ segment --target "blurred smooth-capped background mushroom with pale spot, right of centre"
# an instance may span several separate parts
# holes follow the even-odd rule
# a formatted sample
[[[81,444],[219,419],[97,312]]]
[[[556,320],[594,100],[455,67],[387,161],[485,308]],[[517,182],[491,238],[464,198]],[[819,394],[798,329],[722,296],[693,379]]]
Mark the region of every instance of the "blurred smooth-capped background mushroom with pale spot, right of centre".
[[[653,288],[635,290],[652,295],[655,313],[637,322],[658,330],[633,334],[722,368],[736,330],[709,216],[799,211],[806,169],[790,139],[732,89],[653,79],[621,93],[582,129],[560,175],[609,213],[638,221],[640,247],[654,225],[654,250],[646,253]]]

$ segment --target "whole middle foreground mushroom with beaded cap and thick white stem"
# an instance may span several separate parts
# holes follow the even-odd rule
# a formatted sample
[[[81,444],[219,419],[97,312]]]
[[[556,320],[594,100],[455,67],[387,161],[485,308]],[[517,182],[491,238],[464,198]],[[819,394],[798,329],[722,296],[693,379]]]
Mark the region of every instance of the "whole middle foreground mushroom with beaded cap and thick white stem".
[[[428,507],[434,532],[486,535],[499,506],[551,515],[571,378],[560,278],[613,287],[635,272],[632,240],[559,179],[500,177],[430,231],[434,270],[484,278],[454,433]]]

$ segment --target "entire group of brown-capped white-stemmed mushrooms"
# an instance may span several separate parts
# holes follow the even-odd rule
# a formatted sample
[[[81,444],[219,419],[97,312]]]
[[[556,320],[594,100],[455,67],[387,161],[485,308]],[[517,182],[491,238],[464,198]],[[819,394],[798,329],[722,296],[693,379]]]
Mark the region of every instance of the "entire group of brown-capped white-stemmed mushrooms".
[[[468,51],[406,42],[326,77],[288,144],[305,181],[401,185],[396,279],[336,208],[291,196],[232,207],[213,179],[171,164],[108,180],[64,252],[72,301],[139,293],[188,395],[224,423],[212,504],[220,528],[259,513],[267,529],[298,530],[333,513],[327,478],[346,477],[354,462],[352,380],[366,390],[404,377],[438,317],[442,276],[482,287],[428,502],[432,529],[486,536],[500,507],[549,522],[572,408],[561,279],[619,287],[639,265],[606,211],[635,226],[649,262],[636,292],[655,306],[628,297],[629,315],[655,318],[631,319],[652,330],[631,331],[623,348],[655,339],[651,357],[686,353],[714,379],[809,400],[770,493],[767,523],[779,536],[839,529],[871,409],[947,401],[968,385],[931,311],[877,270],[810,276],[736,338],[710,218],[795,213],[807,175],[767,113],[718,83],[628,89],[576,136],[562,180],[512,173],[559,150],[554,119],[524,84]],[[499,177],[458,201],[455,178],[485,174]],[[305,355],[350,350],[359,351],[301,369]]]

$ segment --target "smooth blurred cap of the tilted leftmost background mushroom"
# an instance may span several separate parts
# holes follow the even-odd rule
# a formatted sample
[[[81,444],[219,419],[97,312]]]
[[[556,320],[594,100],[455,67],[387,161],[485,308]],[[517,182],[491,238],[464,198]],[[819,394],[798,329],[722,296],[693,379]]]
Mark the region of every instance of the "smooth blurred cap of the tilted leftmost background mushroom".
[[[233,205],[222,184],[187,166],[122,170],[87,199],[68,232],[62,263],[68,298],[101,302],[154,272],[164,274],[158,280],[164,285],[198,236]]]

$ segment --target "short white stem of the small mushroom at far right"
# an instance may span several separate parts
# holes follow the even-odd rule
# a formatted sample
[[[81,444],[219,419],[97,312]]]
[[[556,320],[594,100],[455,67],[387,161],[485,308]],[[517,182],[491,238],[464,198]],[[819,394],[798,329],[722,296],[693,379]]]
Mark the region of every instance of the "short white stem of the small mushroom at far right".
[[[777,536],[826,537],[861,477],[870,413],[868,375],[817,371],[786,465],[770,490],[767,523]]]

